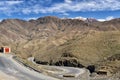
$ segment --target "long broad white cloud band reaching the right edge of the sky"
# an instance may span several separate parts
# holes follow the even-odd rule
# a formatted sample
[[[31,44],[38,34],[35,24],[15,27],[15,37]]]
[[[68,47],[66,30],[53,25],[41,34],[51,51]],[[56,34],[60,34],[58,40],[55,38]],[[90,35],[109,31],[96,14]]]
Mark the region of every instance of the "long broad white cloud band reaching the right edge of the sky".
[[[102,10],[120,10],[119,0],[84,0],[72,1],[65,0],[64,3],[55,3],[50,7],[37,7],[38,13],[66,13],[69,11],[102,11]],[[43,9],[44,8],[44,9]],[[35,10],[34,10],[35,11]]]

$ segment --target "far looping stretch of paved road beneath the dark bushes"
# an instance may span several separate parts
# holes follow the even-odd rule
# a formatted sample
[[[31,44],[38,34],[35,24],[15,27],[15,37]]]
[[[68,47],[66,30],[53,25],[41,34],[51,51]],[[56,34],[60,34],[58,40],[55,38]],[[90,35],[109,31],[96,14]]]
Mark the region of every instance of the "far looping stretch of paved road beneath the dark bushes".
[[[28,58],[29,61],[34,62],[34,57]],[[42,65],[40,65],[42,66]],[[74,67],[63,67],[63,66],[44,66],[43,69],[47,70],[48,72],[57,75],[58,77],[63,77],[63,75],[73,75],[75,77],[78,77],[81,74],[85,73],[85,69],[83,68],[74,68]],[[55,70],[56,69],[56,70]],[[53,71],[52,71],[53,70]]]

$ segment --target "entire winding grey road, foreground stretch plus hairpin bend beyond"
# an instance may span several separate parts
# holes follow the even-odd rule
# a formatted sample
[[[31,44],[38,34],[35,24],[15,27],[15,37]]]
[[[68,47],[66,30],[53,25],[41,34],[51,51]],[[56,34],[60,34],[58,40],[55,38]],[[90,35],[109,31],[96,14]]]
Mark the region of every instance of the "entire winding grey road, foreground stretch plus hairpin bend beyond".
[[[0,75],[7,75],[9,79],[2,80],[79,80],[78,77],[85,74],[85,69],[73,67],[57,67],[57,66],[42,66],[44,71],[49,72],[57,77],[44,75],[35,72],[13,59],[10,54],[0,53]],[[54,69],[54,70],[53,70]],[[56,69],[56,70],[55,70]],[[76,79],[62,78],[64,75],[74,75]],[[0,76],[1,77],[1,76]],[[12,78],[11,78],[12,77]],[[86,77],[86,76],[85,76]],[[14,78],[14,79],[13,79]]]

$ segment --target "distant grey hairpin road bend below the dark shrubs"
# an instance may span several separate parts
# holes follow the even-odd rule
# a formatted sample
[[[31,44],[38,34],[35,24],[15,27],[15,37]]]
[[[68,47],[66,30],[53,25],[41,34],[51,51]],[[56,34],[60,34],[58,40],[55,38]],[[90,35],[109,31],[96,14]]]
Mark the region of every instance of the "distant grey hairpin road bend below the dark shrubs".
[[[28,58],[29,61],[36,64],[34,62],[34,57]],[[40,67],[44,70],[49,72],[50,74],[53,74],[57,78],[60,78],[62,80],[79,80],[81,79],[81,76],[86,77],[86,80],[88,80],[89,72],[87,72],[84,68],[75,68],[75,67],[64,67],[64,66],[46,66],[46,65],[40,65]],[[63,77],[63,76],[74,76],[74,77]],[[66,79],[67,78],[67,79]]]

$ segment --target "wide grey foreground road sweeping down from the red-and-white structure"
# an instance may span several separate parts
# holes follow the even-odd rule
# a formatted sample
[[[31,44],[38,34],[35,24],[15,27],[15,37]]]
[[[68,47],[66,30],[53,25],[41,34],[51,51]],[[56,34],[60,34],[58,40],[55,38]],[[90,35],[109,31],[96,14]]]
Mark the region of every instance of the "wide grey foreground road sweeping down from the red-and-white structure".
[[[0,71],[18,80],[58,80],[30,70],[12,59],[12,55],[0,53]]]

